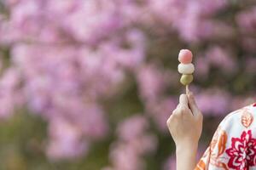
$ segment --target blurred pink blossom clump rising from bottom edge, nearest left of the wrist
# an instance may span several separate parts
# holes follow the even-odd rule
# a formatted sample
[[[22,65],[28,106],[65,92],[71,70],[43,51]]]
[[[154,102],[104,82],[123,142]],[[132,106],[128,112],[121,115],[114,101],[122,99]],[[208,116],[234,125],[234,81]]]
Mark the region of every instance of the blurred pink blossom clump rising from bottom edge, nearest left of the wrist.
[[[153,133],[148,133],[149,122],[146,117],[131,116],[120,122],[117,127],[118,140],[112,144],[110,161],[113,167],[105,170],[139,170],[145,168],[143,155],[156,150],[157,139]]]

